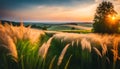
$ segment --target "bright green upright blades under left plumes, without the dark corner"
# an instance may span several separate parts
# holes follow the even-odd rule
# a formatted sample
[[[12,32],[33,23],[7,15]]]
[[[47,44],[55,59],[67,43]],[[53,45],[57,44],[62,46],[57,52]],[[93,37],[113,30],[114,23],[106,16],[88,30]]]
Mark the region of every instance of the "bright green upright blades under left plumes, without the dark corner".
[[[30,41],[18,41],[16,44],[18,51],[18,64],[21,69],[36,69],[42,58],[38,56],[39,44],[31,44]],[[33,64],[34,63],[34,64]]]

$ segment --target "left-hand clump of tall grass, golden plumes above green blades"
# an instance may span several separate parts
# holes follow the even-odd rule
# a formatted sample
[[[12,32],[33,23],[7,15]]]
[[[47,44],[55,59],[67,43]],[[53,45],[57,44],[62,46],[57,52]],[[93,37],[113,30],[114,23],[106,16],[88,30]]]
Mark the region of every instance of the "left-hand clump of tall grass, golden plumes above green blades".
[[[42,57],[39,47],[45,41],[45,33],[26,28],[0,24],[0,69],[39,69]]]

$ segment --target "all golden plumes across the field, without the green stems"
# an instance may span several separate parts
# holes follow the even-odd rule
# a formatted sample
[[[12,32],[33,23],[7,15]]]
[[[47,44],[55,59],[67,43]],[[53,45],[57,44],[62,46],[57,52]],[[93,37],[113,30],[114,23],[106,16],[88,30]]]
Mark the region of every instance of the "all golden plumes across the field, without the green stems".
[[[29,40],[31,43],[36,43],[40,40],[40,37],[43,35],[45,35],[45,33],[42,30],[31,29],[30,26],[26,28],[23,26],[22,23],[20,26],[12,26],[7,23],[5,23],[4,25],[0,24],[0,54],[5,53],[7,55],[12,55],[17,59],[18,54],[16,50],[16,43],[19,40]],[[110,49],[110,51],[113,52],[114,65],[117,60],[120,60],[119,34],[100,35],[93,33],[90,34],[58,33],[53,35],[53,37],[51,37],[47,42],[44,42],[43,45],[39,48],[39,55],[42,56],[44,59],[46,59],[49,47],[52,46],[51,42],[53,39],[57,39],[58,41],[66,45],[58,57],[58,61],[56,64],[58,66],[61,65],[69,46],[81,46],[82,50],[88,51],[90,53],[93,50],[100,58],[103,58],[103,60],[105,58],[109,62],[110,62],[109,58],[104,56],[106,56],[106,54],[108,53],[108,49]],[[72,56],[69,57],[65,69],[67,69],[71,57]],[[53,68],[55,59],[56,56],[53,57],[53,59],[50,62],[51,63],[49,66],[50,69]]]

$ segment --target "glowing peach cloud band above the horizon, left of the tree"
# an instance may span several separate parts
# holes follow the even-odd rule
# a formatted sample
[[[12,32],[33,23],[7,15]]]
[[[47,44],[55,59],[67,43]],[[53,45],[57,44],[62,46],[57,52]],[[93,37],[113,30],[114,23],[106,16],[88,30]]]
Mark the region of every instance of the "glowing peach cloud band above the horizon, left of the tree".
[[[90,21],[97,4],[84,7],[36,6],[29,10],[14,11],[14,17],[33,21]],[[89,11],[89,12],[88,12]]]

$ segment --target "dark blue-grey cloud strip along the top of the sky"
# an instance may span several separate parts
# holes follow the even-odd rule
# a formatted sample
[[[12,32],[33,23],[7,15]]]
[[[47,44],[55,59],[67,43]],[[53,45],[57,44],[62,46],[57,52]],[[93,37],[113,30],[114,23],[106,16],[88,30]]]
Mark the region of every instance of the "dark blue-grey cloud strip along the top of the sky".
[[[0,9],[19,9],[34,5],[72,6],[76,3],[89,3],[92,0],[0,0]]]

